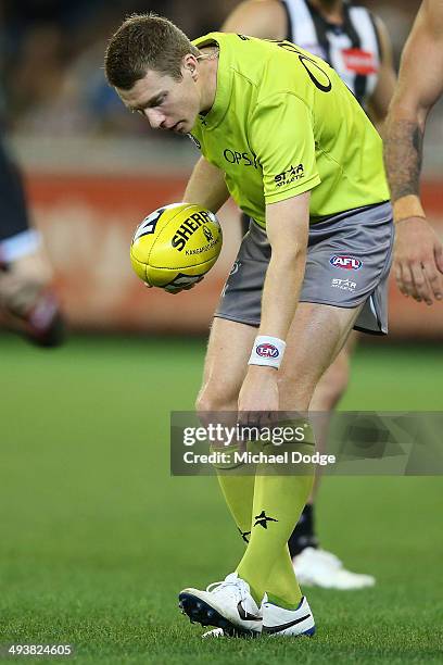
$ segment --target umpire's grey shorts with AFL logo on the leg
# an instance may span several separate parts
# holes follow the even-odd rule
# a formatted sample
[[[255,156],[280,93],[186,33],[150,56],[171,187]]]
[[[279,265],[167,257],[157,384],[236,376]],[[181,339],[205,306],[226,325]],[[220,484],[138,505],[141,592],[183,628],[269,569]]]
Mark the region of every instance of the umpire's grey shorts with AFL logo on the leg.
[[[354,328],[388,332],[388,276],[394,225],[389,202],[350,210],[309,228],[300,302],[336,308],[365,303]],[[251,219],[215,316],[260,326],[270,259],[266,233]]]

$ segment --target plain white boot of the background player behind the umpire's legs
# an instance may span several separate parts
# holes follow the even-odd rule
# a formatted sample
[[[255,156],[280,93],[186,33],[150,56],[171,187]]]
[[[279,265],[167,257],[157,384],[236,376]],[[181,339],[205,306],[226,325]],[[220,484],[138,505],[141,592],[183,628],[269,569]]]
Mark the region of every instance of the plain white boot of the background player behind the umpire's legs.
[[[292,561],[296,579],[302,586],[345,590],[364,589],[376,584],[372,575],[346,570],[340,559],[326,550],[305,548]]]

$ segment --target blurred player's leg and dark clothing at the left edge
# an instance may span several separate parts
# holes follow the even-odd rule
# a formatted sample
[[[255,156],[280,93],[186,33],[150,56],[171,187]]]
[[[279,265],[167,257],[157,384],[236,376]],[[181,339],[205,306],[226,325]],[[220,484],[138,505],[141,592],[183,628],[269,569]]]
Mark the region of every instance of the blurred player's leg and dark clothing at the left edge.
[[[0,135],[0,310],[13,330],[39,347],[58,347],[64,322],[52,269],[29,222],[22,176]]]

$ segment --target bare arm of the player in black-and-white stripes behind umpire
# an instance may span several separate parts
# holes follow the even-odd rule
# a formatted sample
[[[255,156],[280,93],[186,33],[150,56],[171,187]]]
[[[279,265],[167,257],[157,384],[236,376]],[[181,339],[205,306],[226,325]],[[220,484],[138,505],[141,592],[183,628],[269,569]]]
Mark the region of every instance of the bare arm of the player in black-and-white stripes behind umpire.
[[[389,104],[394,95],[396,76],[392,45],[387,27],[378,16],[375,17],[375,22],[381,50],[380,70],[376,89],[369,99],[368,115],[381,134],[382,124],[388,115]]]

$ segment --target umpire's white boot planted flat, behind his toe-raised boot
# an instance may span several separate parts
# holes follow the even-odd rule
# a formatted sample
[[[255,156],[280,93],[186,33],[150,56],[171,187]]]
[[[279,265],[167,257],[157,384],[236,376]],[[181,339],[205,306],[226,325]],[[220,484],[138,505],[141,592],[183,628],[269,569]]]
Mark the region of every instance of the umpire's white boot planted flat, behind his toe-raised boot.
[[[296,610],[286,610],[270,603],[265,597],[262,603],[263,629],[262,635],[271,637],[312,637],[315,633],[315,622],[309,604],[305,597],[300,601]],[[229,637],[221,628],[205,632],[203,638]]]

